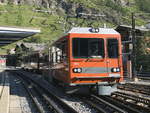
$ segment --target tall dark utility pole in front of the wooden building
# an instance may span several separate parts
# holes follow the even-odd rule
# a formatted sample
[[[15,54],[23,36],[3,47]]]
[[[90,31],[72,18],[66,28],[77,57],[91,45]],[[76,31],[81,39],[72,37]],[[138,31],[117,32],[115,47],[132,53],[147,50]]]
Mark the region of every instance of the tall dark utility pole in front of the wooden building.
[[[131,55],[132,60],[132,78],[135,78],[137,75],[136,72],[136,33],[135,33],[135,15],[132,13],[132,44],[133,50]]]

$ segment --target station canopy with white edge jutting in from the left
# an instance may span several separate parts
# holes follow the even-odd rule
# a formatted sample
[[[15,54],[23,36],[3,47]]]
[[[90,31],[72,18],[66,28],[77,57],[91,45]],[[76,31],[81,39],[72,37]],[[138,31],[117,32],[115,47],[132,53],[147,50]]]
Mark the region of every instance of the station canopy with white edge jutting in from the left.
[[[0,46],[11,44],[15,41],[40,33],[39,29],[0,27]]]

